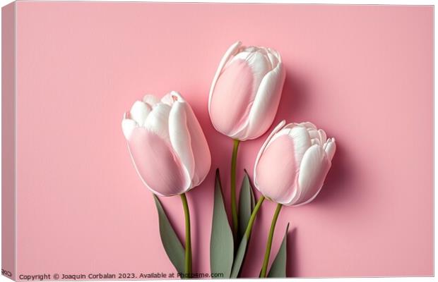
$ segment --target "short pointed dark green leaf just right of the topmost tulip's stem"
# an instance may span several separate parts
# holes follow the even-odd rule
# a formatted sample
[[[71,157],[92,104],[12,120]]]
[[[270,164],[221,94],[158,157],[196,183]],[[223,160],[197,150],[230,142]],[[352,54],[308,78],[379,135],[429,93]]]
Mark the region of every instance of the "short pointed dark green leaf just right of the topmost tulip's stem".
[[[249,217],[254,209],[256,200],[254,199],[254,192],[252,192],[251,183],[247,171],[244,172],[244,178],[240,187],[239,196],[239,238],[243,238]]]

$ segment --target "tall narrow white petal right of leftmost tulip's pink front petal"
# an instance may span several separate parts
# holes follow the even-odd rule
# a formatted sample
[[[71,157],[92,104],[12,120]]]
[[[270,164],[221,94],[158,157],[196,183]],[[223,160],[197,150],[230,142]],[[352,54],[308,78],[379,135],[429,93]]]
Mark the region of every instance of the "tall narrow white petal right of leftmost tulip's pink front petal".
[[[169,113],[169,137],[174,151],[193,178],[195,161],[191,152],[191,137],[187,128],[184,102],[174,102]]]

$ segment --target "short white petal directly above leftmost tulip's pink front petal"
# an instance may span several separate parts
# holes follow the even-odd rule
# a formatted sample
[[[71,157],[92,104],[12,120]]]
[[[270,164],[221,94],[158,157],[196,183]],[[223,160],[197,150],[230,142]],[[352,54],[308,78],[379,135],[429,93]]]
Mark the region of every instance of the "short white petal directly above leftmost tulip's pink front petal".
[[[145,128],[148,128],[164,140],[169,140],[169,113],[169,105],[157,104],[146,118]]]

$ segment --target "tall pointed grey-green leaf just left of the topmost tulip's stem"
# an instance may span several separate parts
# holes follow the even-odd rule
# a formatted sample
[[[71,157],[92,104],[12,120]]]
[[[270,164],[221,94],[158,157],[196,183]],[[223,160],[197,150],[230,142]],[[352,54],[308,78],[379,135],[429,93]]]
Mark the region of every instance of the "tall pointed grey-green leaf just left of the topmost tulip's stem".
[[[227,213],[225,212],[225,205],[223,204],[222,185],[220,184],[219,170],[217,169],[210,240],[211,272],[223,274],[223,277],[220,278],[230,278],[233,253],[234,241]]]

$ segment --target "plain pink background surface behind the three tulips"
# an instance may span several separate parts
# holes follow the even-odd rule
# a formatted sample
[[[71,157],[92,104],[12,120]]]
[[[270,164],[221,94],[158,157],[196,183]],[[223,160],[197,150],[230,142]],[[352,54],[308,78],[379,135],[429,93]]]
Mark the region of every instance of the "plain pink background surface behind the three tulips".
[[[433,274],[432,6],[20,1],[16,12],[18,274],[173,271],[120,126],[134,100],[169,90],[213,154],[188,195],[194,271],[208,272],[214,168],[228,202],[232,149],[208,90],[237,39],[283,56],[275,123],[312,121],[338,142],[319,197],[280,214],[273,253],[290,222],[288,276]],[[239,181],[265,138],[241,145]],[[179,198],[162,202],[182,235]],[[274,208],[256,221],[245,276],[259,274]]]

